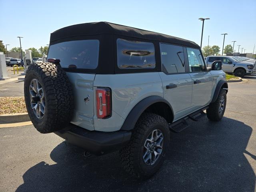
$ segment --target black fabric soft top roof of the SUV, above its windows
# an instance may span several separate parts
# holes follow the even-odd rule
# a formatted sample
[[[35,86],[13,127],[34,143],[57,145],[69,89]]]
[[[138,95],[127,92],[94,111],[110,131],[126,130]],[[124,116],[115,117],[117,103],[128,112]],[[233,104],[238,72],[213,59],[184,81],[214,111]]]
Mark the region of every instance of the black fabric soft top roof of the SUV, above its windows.
[[[76,36],[98,34],[115,34],[117,36],[128,36],[132,38],[154,40],[192,48],[200,48],[198,44],[189,40],[109,22],[84,23],[61,28],[51,33],[50,43],[63,38],[70,38],[70,40],[72,40],[72,37]]]

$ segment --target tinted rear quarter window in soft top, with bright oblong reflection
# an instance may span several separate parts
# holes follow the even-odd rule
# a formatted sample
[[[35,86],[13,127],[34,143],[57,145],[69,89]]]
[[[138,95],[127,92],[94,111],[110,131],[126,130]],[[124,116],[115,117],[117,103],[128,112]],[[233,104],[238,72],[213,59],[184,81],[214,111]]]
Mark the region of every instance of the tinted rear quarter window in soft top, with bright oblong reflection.
[[[154,44],[117,39],[117,64],[120,69],[155,68]]]

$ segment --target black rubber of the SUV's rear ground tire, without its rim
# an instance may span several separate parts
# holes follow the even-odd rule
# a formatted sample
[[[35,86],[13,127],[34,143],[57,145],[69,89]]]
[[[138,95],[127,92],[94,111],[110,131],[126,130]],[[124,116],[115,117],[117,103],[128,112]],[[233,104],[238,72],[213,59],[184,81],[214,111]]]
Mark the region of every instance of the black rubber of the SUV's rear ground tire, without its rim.
[[[142,156],[144,143],[148,134],[155,129],[159,129],[164,136],[163,150],[162,154],[153,165],[147,165]],[[155,174],[162,165],[169,142],[170,130],[166,120],[157,114],[142,114],[132,131],[130,142],[119,151],[122,166],[128,173],[136,178],[149,178]]]

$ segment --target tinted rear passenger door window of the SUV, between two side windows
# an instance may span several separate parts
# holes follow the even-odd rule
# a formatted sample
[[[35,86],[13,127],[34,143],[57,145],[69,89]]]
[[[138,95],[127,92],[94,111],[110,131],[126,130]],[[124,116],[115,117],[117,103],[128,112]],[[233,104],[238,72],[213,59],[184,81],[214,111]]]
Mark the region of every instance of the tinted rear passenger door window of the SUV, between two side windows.
[[[184,52],[182,46],[160,43],[163,72],[185,72]]]

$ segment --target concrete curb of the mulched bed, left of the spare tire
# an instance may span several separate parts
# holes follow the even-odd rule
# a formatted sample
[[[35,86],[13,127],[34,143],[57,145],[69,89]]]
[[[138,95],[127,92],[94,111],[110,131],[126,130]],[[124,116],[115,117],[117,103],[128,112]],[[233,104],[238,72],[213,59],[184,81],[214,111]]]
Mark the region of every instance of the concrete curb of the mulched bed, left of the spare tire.
[[[3,114],[0,115],[1,124],[14,124],[20,122],[30,122],[28,113]]]

